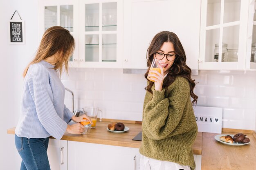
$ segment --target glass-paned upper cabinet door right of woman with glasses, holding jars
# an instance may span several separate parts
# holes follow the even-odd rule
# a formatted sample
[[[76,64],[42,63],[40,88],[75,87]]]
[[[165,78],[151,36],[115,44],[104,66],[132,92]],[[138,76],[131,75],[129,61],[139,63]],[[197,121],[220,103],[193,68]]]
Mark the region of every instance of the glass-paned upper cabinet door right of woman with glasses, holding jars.
[[[248,0],[203,0],[199,69],[244,70]]]

